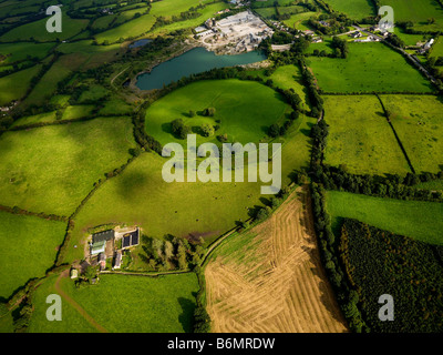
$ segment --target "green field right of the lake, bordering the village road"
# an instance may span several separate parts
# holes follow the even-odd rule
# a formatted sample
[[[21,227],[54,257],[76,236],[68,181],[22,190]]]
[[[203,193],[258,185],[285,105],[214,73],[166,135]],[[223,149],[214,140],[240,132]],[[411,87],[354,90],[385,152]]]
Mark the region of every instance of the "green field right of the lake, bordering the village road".
[[[347,59],[309,60],[320,89],[326,92],[432,91],[418,70],[382,43],[349,43]]]

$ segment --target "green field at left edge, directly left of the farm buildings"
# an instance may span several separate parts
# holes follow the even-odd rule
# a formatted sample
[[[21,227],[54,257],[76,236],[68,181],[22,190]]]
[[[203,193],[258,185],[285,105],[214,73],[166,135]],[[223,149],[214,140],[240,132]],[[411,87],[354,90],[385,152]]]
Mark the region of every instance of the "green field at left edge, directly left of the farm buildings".
[[[55,261],[65,231],[63,222],[0,211],[0,298],[10,297],[30,278],[44,276]]]

